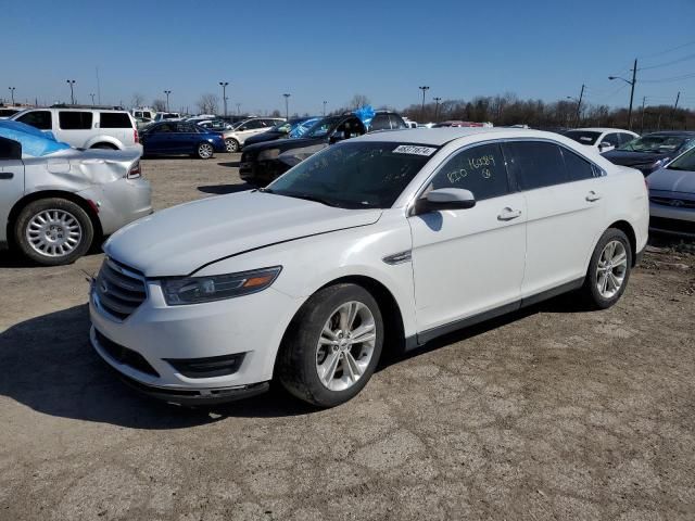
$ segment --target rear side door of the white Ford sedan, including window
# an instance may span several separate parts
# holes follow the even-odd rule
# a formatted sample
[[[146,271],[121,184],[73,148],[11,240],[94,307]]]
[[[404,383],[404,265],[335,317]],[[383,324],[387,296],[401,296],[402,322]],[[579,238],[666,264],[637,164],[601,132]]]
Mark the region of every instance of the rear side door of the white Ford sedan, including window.
[[[503,145],[528,212],[522,296],[579,283],[604,224],[601,170],[552,141]]]

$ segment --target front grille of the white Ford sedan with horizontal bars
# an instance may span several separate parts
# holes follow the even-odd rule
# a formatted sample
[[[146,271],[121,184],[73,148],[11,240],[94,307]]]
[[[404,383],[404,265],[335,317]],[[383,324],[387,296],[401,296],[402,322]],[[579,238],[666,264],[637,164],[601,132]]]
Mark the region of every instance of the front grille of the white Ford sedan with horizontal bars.
[[[125,320],[147,298],[144,277],[109,257],[97,276],[97,296],[111,316]]]

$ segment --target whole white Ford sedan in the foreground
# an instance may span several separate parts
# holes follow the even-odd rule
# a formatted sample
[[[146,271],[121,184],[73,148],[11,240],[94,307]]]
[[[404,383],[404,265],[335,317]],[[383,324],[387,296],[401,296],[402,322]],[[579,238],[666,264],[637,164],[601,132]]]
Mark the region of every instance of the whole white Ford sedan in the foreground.
[[[179,404],[277,379],[330,407],[386,350],[578,290],[615,304],[647,240],[642,174],[518,129],[377,132],[267,189],[159,212],[114,233],[91,342]]]

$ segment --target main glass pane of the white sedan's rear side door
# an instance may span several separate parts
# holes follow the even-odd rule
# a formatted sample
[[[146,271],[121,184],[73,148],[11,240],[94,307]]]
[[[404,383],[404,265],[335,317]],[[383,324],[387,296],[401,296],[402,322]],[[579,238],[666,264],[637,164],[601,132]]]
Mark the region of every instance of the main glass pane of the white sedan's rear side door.
[[[507,167],[520,190],[534,190],[567,182],[565,161],[555,143],[517,141],[504,144]]]

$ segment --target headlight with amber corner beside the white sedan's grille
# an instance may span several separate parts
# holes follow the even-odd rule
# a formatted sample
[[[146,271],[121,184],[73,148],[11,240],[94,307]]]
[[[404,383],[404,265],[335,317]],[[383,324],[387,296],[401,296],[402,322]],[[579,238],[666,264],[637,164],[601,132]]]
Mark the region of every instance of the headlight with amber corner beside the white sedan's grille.
[[[278,278],[282,266],[274,266],[212,277],[163,279],[162,289],[169,306],[222,301],[265,290]]]

